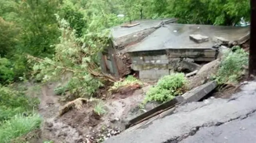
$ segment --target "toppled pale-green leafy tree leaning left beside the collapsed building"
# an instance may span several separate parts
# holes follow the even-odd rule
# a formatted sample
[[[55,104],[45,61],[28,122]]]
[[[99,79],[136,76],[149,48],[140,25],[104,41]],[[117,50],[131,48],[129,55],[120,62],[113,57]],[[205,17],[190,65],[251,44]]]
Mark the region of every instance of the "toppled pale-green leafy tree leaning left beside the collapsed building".
[[[90,97],[104,82],[116,82],[117,79],[106,73],[102,73],[98,65],[98,52],[106,47],[109,42],[109,32],[95,30],[95,25],[88,28],[88,32],[82,38],[76,38],[75,30],[72,30],[65,20],[57,15],[58,24],[62,36],[55,48],[53,58],[37,58],[28,55],[28,62],[33,64],[33,78],[46,83],[48,81],[61,81],[63,75],[72,73],[66,89],[70,91],[72,99],[77,97]],[[92,33],[93,32],[93,33]]]

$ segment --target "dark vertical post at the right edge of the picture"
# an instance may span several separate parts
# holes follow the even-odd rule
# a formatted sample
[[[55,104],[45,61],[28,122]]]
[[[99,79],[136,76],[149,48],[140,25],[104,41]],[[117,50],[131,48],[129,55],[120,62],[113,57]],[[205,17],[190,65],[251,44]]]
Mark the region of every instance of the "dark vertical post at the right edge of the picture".
[[[251,0],[249,76],[256,75],[256,0]]]

